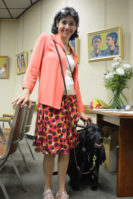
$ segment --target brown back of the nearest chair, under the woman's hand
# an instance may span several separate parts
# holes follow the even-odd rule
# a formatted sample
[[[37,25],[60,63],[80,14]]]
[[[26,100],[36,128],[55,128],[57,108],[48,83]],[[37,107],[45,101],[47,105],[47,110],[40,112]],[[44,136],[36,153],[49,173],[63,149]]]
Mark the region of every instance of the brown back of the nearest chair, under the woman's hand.
[[[6,143],[0,145],[2,153],[0,153],[0,159],[4,160],[17,150],[18,142],[20,140],[20,134],[23,127],[24,118],[27,111],[27,105],[21,108],[21,105],[16,105],[15,114],[12,121],[11,129],[6,139]]]

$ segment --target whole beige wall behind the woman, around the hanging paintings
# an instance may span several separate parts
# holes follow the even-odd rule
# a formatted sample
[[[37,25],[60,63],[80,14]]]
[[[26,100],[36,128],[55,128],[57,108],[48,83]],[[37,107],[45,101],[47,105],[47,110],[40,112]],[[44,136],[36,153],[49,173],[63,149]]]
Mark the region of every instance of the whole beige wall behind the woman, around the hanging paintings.
[[[132,0],[42,0],[19,20],[0,21],[0,55],[9,56],[10,60],[9,79],[0,80],[0,115],[12,111],[10,103],[21,93],[24,75],[16,75],[16,54],[24,50],[29,52],[42,32],[50,33],[55,13],[66,5],[73,6],[80,16],[79,81],[84,104],[95,97],[108,102],[111,96],[104,87],[103,75],[111,68],[112,61],[88,63],[88,32],[121,26],[124,60],[133,65]],[[34,100],[37,99],[37,85],[31,95]],[[126,93],[129,103],[133,104],[132,85]]]

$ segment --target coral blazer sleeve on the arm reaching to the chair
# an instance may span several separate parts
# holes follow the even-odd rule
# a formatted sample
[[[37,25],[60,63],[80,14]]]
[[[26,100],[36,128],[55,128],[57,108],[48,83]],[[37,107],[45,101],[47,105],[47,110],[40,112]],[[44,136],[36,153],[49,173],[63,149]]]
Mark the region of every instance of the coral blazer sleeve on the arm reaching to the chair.
[[[23,88],[29,88],[30,92],[32,92],[40,73],[41,63],[44,55],[45,40],[45,34],[42,34],[37,39],[31,55],[31,60],[28,69],[25,74]]]

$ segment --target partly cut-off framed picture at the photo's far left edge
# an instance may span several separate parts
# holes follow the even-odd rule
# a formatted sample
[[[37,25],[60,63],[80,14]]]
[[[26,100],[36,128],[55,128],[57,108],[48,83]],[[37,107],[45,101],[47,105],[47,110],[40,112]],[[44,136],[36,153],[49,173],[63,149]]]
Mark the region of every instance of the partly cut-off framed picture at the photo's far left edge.
[[[0,79],[8,79],[9,77],[9,58],[0,56]]]

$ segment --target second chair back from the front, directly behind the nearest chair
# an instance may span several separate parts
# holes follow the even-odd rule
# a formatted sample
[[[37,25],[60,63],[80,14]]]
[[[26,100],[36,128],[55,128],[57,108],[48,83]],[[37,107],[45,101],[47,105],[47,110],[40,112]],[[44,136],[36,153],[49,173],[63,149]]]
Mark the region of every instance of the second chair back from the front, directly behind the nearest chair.
[[[35,106],[36,106],[36,102],[32,101],[31,102],[31,108],[29,109],[29,114],[28,114],[28,118],[27,118],[27,124],[26,124],[26,127],[25,127],[25,133],[30,131]]]

